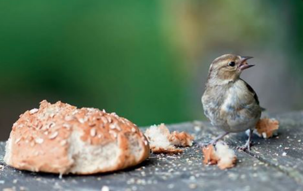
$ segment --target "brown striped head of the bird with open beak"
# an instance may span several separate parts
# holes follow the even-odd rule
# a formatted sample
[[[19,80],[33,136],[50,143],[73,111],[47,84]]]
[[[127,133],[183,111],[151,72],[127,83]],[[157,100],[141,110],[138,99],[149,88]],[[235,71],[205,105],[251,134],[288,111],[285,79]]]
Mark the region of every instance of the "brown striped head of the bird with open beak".
[[[233,54],[217,57],[210,66],[208,82],[224,84],[236,80],[243,70],[254,66],[247,63],[250,58],[252,57],[241,57]]]

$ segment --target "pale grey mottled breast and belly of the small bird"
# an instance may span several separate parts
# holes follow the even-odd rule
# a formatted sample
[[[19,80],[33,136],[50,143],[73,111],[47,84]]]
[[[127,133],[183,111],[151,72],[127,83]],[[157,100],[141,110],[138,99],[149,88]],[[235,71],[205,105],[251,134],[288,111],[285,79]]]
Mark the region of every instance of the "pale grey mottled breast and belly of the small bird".
[[[207,88],[202,104],[211,123],[226,132],[253,129],[260,119],[260,106],[242,80]]]

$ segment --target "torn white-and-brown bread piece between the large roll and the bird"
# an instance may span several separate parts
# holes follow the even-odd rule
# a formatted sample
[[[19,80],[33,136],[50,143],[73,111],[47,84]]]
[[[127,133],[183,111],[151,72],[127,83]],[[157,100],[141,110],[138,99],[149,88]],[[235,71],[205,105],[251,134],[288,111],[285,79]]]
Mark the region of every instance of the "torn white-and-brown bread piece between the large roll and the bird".
[[[170,133],[170,130],[162,123],[152,125],[145,131],[145,136],[150,142],[152,153],[176,154],[182,153],[182,149],[175,146],[187,147],[193,145],[194,137],[185,132]]]

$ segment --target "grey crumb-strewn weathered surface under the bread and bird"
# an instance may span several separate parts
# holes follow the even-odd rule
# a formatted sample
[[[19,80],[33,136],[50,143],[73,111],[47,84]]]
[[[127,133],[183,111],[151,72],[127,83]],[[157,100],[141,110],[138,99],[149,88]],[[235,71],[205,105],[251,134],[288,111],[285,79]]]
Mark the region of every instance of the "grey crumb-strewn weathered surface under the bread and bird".
[[[202,164],[201,148],[195,144],[178,155],[154,155],[141,165],[121,172],[89,176],[35,173],[4,165],[4,143],[0,144],[0,191],[302,191],[303,112],[275,115],[281,122],[279,136],[265,140],[254,135],[250,152],[236,151],[235,168],[221,171]],[[206,122],[168,126],[170,130],[195,134],[196,142],[208,142],[222,132]],[[231,148],[245,143],[244,133],[224,139]],[[105,190],[105,189],[104,189]]]

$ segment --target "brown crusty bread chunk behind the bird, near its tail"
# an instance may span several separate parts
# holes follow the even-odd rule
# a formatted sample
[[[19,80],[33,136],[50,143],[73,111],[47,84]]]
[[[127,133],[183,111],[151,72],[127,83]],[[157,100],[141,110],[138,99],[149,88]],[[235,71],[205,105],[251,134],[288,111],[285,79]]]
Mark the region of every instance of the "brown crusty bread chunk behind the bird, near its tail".
[[[254,133],[263,138],[271,138],[272,136],[277,135],[278,129],[278,120],[275,118],[264,118],[258,121]]]

